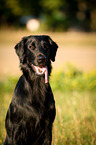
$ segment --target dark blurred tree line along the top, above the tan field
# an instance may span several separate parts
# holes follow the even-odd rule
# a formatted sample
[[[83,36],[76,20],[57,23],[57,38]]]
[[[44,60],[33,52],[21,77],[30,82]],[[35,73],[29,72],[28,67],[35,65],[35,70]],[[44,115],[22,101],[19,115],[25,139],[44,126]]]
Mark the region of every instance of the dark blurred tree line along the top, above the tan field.
[[[53,31],[96,31],[96,0],[0,0],[1,26],[20,26],[23,16],[38,18]]]

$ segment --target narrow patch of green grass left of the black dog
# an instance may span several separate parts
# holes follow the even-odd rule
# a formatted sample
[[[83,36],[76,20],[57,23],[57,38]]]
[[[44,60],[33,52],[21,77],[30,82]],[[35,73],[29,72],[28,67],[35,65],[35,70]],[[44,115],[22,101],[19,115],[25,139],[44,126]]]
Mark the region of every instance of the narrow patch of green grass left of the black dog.
[[[16,77],[8,77],[0,81],[0,145],[5,137],[5,117],[16,82]]]

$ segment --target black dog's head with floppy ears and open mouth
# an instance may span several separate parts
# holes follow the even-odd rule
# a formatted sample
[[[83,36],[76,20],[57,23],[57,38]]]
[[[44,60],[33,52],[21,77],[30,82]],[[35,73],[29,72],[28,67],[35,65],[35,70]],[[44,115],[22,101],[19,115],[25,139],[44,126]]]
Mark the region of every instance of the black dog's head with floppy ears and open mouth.
[[[21,64],[27,64],[38,74],[43,74],[51,61],[55,61],[57,44],[47,35],[22,38],[15,46]]]

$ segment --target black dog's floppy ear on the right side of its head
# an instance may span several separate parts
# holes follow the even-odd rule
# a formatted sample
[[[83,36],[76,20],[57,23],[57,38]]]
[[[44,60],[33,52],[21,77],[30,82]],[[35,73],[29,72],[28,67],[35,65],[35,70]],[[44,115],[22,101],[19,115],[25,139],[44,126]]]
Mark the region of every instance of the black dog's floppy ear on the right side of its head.
[[[50,59],[54,62],[58,45],[50,37],[49,37],[49,43],[51,46]]]

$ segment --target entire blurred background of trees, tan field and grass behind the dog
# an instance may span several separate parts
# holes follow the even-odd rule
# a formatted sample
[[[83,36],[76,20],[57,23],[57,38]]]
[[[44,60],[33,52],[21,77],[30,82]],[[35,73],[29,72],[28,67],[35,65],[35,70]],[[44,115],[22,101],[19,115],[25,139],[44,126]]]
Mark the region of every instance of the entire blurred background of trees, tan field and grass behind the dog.
[[[22,74],[14,46],[35,34],[59,46],[50,77],[57,112],[52,145],[96,145],[96,0],[0,0],[0,145]]]

